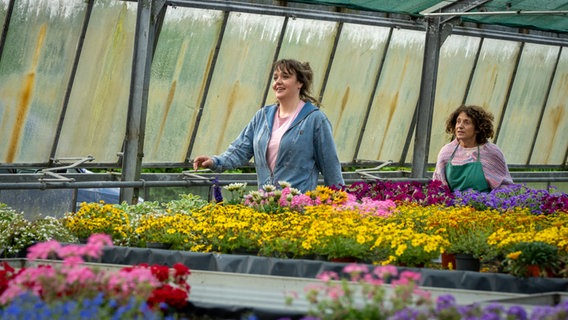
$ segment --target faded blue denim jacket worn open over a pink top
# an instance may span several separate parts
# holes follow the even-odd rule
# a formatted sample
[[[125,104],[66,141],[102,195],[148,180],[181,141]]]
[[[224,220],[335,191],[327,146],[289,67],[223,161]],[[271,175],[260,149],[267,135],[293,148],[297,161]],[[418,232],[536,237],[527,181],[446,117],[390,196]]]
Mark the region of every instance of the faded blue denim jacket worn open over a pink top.
[[[274,172],[270,171],[266,151],[276,110],[274,104],[257,111],[229,148],[213,157],[211,169],[217,172],[234,169],[247,164],[254,156],[259,188],[265,184],[278,186],[279,181],[286,181],[302,192],[314,190],[320,172],[326,186],[344,185],[331,123],[310,102],[306,102],[282,136]]]

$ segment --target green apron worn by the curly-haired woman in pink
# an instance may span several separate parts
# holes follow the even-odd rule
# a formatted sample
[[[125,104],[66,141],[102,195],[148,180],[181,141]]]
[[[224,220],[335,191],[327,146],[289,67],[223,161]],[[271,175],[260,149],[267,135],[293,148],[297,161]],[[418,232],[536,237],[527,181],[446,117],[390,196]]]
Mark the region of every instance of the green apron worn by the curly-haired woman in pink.
[[[489,192],[491,188],[485,179],[483,167],[481,166],[481,154],[479,153],[479,145],[477,146],[477,161],[455,166],[452,164],[454,154],[459,144],[452,152],[450,161],[446,163],[446,181],[452,191],[473,189],[480,192]]]

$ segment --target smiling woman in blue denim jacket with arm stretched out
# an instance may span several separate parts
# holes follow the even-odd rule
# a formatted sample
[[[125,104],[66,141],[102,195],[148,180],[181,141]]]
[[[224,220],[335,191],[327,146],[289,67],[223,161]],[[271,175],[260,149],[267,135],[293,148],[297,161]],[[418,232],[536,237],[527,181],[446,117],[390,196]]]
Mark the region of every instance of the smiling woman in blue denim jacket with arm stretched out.
[[[193,168],[221,172],[254,156],[259,186],[288,182],[306,192],[317,187],[320,172],[326,186],[343,185],[331,123],[310,95],[312,77],[307,62],[275,62],[272,90],[278,102],[257,111],[223,154],[196,157]]]

